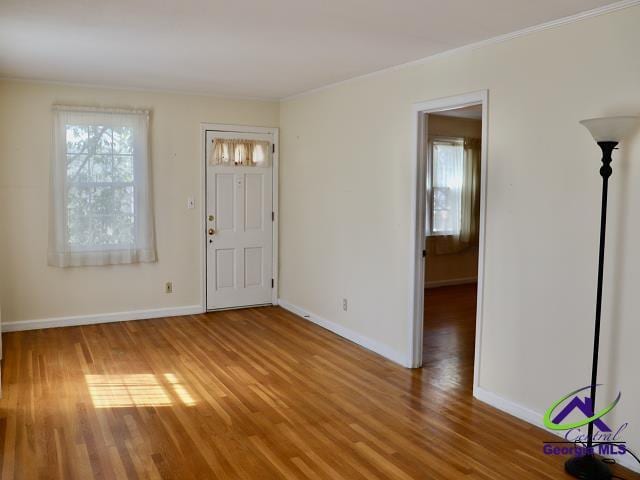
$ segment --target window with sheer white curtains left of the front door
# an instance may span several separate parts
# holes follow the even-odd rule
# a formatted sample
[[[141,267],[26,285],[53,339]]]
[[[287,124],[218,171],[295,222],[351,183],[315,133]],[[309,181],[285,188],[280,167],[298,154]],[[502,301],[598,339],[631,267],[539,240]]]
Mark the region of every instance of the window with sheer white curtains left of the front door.
[[[148,112],[54,109],[49,263],[155,261]]]

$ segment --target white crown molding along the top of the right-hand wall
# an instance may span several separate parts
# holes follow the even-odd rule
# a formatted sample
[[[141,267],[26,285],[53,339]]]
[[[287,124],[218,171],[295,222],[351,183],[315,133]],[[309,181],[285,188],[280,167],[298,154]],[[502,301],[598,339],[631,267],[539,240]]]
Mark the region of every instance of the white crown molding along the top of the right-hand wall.
[[[423,65],[431,60],[440,57],[447,57],[449,55],[454,55],[456,53],[477,50],[478,48],[486,47],[488,45],[493,45],[496,43],[506,42],[508,40],[512,40],[514,38],[523,37],[526,35],[530,35],[532,33],[541,32],[543,30],[548,30],[551,28],[560,27],[562,25],[567,25],[574,22],[579,22],[581,20],[586,20],[592,17],[598,17],[600,15],[606,15],[608,13],[617,12],[618,10],[623,10],[629,7],[635,7],[640,5],[640,0],[622,0],[619,2],[611,3],[609,5],[603,5],[602,7],[594,8],[592,10],[587,10],[585,12],[576,13],[574,15],[570,15],[568,17],[558,18],[556,20],[551,20],[549,22],[541,23],[539,25],[534,25],[532,27],[523,28],[521,30],[516,30],[515,32],[505,33],[502,35],[498,35],[496,37],[487,38],[485,40],[480,40],[478,42],[469,43],[467,45],[462,45],[460,47],[452,48],[450,50],[445,50],[443,52],[434,53],[433,55],[428,55],[426,57],[420,58],[418,60],[412,60],[410,62],[401,63],[398,65],[393,65],[391,67],[383,68],[381,70],[376,70],[374,72],[365,73],[362,75],[358,75],[355,77],[351,77],[345,80],[340,80],[338,82],[329,83],[327,85],[323,85],[321,87],[312,88],[311,90],[305,90],[300,93],[296,93],[293,95],[289,95],[287,97],[283,97],[280,99],[280,102],[287,102],[289,100],[295,100],[296,98],[306,97],[308,95],[312,95],[314,93],[322,92],[324,90],[329,90],[331,88],[337,87],[339,85],[344,85],[353,81],[363,80],[369,77],[375,77],[378,75],[382,75],[389,72],[395,72],[396,70],[402,70],[408,67],[413,67],[417,65]]]

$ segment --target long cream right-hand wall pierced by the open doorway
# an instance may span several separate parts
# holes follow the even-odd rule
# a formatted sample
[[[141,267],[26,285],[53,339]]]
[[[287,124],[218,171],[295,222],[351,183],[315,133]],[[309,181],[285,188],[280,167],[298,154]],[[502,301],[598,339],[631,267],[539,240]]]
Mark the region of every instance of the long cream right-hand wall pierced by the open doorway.
[[[640,8],[346,82],[281,108],[280,296],[406,355],[411,108],[489,89],[480,386],[536,412],[589,383],[599,151],[640,112]],[[602,401],[640,449],[640,138],[611,180]],[[338,299],[349,298],[343,313]]]

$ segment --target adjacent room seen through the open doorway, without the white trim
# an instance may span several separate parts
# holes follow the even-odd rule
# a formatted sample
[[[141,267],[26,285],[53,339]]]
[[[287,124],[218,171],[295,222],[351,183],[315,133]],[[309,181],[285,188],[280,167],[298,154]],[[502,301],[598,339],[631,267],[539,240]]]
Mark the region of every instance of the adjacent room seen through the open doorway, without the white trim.
[[[423,369],[473,395],[482,183],[482,104],[429,113]]]

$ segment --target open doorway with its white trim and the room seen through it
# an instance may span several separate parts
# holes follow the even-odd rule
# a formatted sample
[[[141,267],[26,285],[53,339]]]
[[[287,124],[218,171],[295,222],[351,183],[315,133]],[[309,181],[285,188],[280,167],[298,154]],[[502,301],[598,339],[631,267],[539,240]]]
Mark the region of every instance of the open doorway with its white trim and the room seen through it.
[[[487,93],[425,102],[416,113],[416,237],[411,365],[460,392],[478,384]]]

